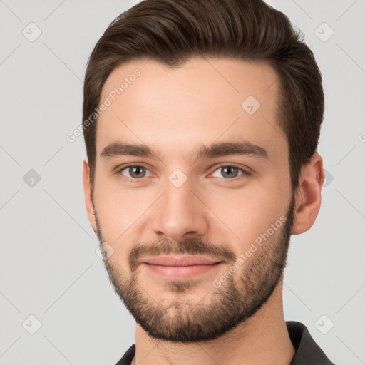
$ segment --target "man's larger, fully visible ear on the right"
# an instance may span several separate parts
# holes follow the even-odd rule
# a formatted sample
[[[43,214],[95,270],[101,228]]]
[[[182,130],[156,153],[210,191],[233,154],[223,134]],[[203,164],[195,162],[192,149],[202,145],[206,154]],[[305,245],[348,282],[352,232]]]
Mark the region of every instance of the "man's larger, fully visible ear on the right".
[[[323,183],[323,160],[318,153],[314,153],[309,163],[302,168],[295,192],[293,235],[306,232],[314,225],[321,207]]]

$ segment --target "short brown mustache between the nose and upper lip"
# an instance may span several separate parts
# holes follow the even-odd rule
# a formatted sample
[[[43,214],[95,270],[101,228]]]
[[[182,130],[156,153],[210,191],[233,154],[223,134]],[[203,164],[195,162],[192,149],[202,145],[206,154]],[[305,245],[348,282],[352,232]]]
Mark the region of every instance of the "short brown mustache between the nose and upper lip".
[[[178,242],[160,239],[147,244],[139,242],[133,247],[128,257],[131,270],[134,271],[138,267],[141,257],[158,255],[210,255],[229,262],[235,262],[237,259],[235,253],[223,243],[212,245],[210,241],[199,237],[188,237]]]

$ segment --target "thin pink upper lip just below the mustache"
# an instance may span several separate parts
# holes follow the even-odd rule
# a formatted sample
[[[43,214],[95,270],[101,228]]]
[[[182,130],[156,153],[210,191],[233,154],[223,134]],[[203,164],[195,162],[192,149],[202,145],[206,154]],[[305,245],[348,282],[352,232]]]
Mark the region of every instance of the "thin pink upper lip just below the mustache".
[[[194,265],[212,265],[220,262],[219,260],[201,255],[185,255],[185,256],[153,256],[143,259],[145,264],[161,265],[168,267],[182,267]]]

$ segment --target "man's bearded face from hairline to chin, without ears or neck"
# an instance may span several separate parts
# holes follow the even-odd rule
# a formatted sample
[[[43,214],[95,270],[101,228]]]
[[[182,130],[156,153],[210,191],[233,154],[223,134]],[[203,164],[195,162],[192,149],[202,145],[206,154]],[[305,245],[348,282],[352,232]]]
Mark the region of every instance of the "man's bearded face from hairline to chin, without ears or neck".
[[[294,197],[276,80],[264,63],[134,60],[103,86],[90,220],[115,292],[150,336],[215,339],[282,277]],[[187,255],[211,264],[153,261]]]

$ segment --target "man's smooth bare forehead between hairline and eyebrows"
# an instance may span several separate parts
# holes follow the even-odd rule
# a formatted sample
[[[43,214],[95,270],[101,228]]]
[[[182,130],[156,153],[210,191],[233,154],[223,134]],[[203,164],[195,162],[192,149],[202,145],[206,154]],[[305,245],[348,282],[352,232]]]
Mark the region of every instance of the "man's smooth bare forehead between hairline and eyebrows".
[[[106,145],[154,145],[189,153],[202,143],[237,138],[271,153],[287,151],[278,126],[277,73],[266,63],[192,58],[170,68],[137,59],[110,73],[101,93],[97,154]],[[283,149],[284,146],[284,149]]]

